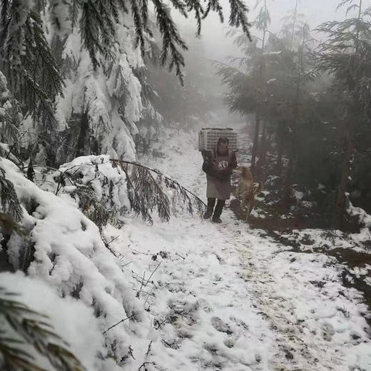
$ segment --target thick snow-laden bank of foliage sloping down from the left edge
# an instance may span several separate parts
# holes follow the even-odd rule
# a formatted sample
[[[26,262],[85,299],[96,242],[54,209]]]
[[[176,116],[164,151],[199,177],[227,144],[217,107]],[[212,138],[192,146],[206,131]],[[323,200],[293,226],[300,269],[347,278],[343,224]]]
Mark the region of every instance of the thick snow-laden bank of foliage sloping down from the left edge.
[[[101,319],[102,332],[126,317],[131,317],[135,329],[143,312],[98,227],[69,195],[58,197],[41,190],[4,158],[0,158],[0,168],[14,185],[23,210],[21,224],[28,231],[26,237],[12,233],[6,242],[14,270],[23,268],[30,277],[49,283],[60,296],[72,295],[92,306]],[[127,354],[129,340],[122,327],[107,332],[106,341],[114,344],[116,355]]]

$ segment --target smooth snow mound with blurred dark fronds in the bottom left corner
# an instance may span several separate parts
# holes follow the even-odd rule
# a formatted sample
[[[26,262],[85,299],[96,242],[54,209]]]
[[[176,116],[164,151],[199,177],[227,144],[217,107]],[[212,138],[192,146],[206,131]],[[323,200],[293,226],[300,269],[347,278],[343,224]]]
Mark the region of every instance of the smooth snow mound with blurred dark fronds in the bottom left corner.
[[[20,349],[33,357],[21,352],[11,354],[8,359],[0,357],[1,370],[4,366],[5,370],[19,371],[119,370],[116,362],[107,357],[101,320],[92,308],[71,297],[60,298],[50,285],[21,272],[0,273],[0,282],[4,289],[0,290],[0,318],[8,315],[13,324],[9,326],[1,318],[1,330],[6,336],[1,337],[0,344],[5,347],[0,347],[0,354],[9,351],[6,346],[10,345],[13,350]],[[6,292],[16,296],[5,295]],[[6,300],[5,308],[1,300]],[[10,343],[9,339],[20,343]],[[28,364],[19,362],[19,357]],[[11,362],[13,368],[8,368]]]

